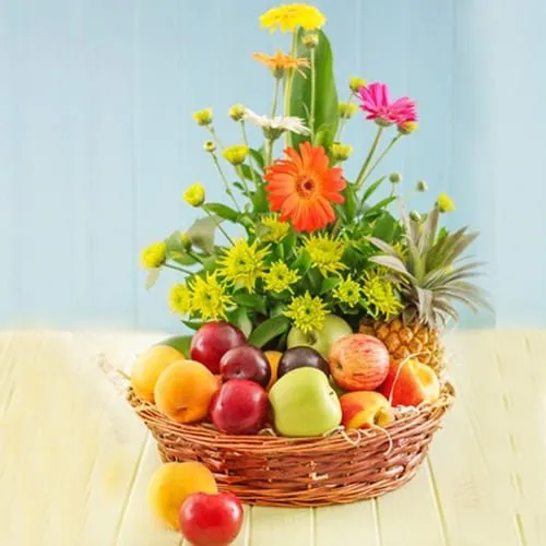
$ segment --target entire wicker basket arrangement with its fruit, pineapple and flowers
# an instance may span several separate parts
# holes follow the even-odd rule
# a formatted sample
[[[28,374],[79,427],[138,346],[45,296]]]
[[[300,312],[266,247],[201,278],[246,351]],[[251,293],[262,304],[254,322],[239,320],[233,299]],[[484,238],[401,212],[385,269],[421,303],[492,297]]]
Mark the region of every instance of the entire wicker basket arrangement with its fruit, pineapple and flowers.
[[[203,463],[248,503],[352,502],[411,479],[454,400],[441,337],[458,305],[487,307],[464,256],[477,234],[448,229],[446,193],[407,212],[424,180],[403,194],[400,174],[375,175],[416,132],[415,100],[352,78],[339,102],[318,9],[260,21],[292,40],[252,56],[272,75],[271,115],[234,105],[242,143],[225,146],[212,109],[193,114],[228,204],[191,185],[202,216],[141,256],[147,288],[181,275],[170,309],[194,333],[140,355],[127,397],[163,461]],[[370,145],[352,174],[342,135],[358,110]]]

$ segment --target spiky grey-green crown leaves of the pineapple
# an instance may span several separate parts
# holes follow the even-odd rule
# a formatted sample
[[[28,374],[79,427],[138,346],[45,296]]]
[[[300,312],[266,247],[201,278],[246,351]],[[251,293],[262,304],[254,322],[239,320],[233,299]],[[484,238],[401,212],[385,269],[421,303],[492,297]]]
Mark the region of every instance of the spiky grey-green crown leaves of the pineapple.
[[[439,216],[440,211],[435,206],[422,225],[402,210],[407,247],[405,256],[381,239],[368,237],[383,252],[371,257],[370,261],[390,270],[401,283],[407,304],[404,318],[419,320],[431,328],[444,327],[449,318],[455,322],[459,320],[454,301],[466,305],[473,312],[479,307],[491,310],[485,290],[468,281],[480,274],[484,263],[461,256],[478,234],[467,233],[466,227],[452,234],[446,228],[439,230]]]

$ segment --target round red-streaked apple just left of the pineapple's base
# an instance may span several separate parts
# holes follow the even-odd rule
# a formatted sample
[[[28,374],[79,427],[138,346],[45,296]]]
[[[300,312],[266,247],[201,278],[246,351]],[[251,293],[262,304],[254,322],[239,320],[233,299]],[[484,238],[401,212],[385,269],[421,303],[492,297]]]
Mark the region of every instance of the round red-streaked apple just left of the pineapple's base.
[[[389,352],[371,335],[347,335],[332,345],[330,372],[347,391],[372,391],[387,378]]]

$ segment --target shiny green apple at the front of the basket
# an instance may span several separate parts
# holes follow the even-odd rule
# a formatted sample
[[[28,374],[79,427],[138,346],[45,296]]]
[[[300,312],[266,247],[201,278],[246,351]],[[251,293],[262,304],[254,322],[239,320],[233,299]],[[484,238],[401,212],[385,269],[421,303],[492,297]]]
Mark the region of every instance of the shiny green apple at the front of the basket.
[[[283,376],[270,391],[270,403],[282,436],[322,436],[342,420],[340,399],[317,368],[297,368]]]

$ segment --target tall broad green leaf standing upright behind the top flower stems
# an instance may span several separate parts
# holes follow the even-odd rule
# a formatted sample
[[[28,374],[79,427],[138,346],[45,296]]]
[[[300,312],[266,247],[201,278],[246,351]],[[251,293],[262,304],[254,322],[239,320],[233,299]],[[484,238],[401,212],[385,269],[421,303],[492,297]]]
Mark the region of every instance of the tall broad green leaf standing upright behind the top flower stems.
[[[304,34],[305,31],[299,28],[296,36],[296,57],[310,58],[310,50],[307,49],[301,41]],[[316,128],[328,126],[331,133],[335,134],[340,122],[340,114],[337,107],[337,91],[334,81],[332,49],[327,35],[322,31],[319,31],[317,34],[319,35],[319,44],[314,48],[314,109],[313,111],[309,111],[309,115],[306,111],[311,108],[311,71],[307,69],[305,74],[306,78],[298,72],[294,72],[293,74],[290,99],[285,116],[298,116],[306,121],[308,127],[310,127],[309,116],[313,116]],[[309,136],[294,133],[287,134],[287,143],[293,147],[309,140]]]

